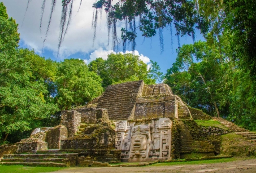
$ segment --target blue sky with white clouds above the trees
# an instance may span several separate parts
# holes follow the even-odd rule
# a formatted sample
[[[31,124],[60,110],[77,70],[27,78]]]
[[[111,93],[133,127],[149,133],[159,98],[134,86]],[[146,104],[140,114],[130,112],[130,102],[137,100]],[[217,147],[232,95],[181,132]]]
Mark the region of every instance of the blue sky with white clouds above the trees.
[[[60,47],[58,56],[62,0],[57,0],[45,43],[43,42],[50,16],[51,0],[46,0],[41,30],[40,19],[43,0],[30,0],[27,12],[28,0],[2,0],[1,2],[7,7],[8,16],[13,17],[16,23],[19,24],[20,47],[34,49],[38,55],[44,56],[46,59],[50,58],[56,61],[63,61],[64,59],[79,58],[83,59],[85,63],[88,64],[97,57],[107,59],[107,55],[114,52],[112,50],[111,40],[108,45],[106,14],[104,11],[102,11],[101,19],[98,19],[96,39],[93,42],[92,5],[95,0],[82,1],[79,12],[77,11],[79,9],[80,0],[74,1],[71,24],[64,38],[64,42]],[[121,39],[120,29],[122,26],[122,23],[117,25],[119,39]],[[150,65],[150,60],[156,61],[161,68],[161,72],[165,74],[166,70],[171,68],[177,56],[176,49],[179,46],[175,32],[174,28],[172,28],[172,32],[170,27],[163,29],[164,51],[161,53],[159,35],[157,34],[157,36],[153,38],[144,38],[138,30],[136,50],[133,54],[140,56],[140,59],[148,65]],[[196,41],[200,39],[203,40],[203,37],[199,33],[199,30],[197,30]],[[192,37],[184,36],[180,38],[180,45],[192,43]],[[119,51],[122,50],[123,47],[121,43]],[[131,46],[127,47],[126,52],[132,53]]]

